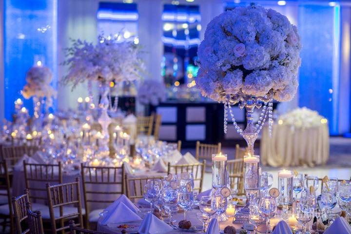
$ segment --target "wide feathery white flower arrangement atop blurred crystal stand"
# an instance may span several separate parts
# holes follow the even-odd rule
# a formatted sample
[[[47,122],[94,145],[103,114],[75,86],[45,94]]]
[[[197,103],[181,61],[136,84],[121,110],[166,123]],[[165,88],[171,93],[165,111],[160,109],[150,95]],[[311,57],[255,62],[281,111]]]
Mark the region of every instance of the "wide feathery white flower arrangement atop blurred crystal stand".
[[[138,58],[139,47],[133,41],[118,39],[118,36],[99,36],[96,45],[73,40],[63,62],[69,67],[63,83],[71,83],[75,88],[86,80],[105,83],[138,80],[143,71],[143,62]]]

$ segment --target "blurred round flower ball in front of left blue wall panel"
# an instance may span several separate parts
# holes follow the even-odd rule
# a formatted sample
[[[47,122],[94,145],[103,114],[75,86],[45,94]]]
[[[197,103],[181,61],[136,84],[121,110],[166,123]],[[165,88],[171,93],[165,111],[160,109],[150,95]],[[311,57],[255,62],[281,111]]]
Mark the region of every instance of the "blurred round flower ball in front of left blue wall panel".
[[[53,97],[56,97],[56,90],[51,87],[52,72],[45,66],[33,66],[26,74],[26,85],[22,90],[24,98],[29,99],[32,96],[46,98],[47,107],[52,106]]]

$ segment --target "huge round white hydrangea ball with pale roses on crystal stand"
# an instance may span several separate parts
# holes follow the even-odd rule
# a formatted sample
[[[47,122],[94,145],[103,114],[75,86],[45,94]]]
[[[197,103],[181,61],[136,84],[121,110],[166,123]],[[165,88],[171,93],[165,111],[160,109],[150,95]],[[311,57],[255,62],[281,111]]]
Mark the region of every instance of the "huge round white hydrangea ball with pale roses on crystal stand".
[[[215,17],[198,48],[196,84],[205,97],[225,102],[228,94],[289,101],[301,64],[296,26],[280,13],[252,4]]]

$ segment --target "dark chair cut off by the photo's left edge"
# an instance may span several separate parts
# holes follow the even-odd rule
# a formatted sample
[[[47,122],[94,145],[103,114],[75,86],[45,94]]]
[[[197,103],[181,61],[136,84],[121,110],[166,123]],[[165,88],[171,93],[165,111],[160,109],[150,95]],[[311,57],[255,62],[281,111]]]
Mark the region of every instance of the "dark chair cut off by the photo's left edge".
[[[7,162],[0,162],[0,198],[3,205],[0,206],[0,219],[3,220],[2,230],[10,224],[11,233],[15,233],[15,224],[13,219],[13,210],[11,208],[11,182]],[[9,221],[8,221],[9,220]]]

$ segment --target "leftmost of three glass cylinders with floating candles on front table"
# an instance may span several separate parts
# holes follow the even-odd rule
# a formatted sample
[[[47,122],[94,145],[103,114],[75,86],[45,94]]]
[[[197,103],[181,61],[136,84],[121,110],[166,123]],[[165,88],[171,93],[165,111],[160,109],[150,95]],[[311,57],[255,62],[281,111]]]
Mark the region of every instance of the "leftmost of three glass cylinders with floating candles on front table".
[[[222,188],[227,185],[227,155],[212,155],[212,186]]]

